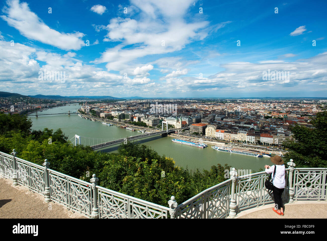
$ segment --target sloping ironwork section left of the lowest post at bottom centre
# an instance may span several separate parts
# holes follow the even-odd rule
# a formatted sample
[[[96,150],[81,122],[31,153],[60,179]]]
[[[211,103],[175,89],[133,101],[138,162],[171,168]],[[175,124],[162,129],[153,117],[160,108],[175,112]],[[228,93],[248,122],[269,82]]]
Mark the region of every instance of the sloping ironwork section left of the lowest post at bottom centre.
[[[100,218],[167,218],[168,209],[98,187]]]

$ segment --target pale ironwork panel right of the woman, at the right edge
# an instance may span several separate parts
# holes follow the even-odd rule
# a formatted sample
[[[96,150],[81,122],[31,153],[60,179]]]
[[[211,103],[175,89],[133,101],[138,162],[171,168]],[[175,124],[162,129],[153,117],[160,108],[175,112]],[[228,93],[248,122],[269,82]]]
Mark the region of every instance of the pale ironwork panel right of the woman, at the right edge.
[[[325,196],[326,170],[294,170],[294,200],[319,200]]]

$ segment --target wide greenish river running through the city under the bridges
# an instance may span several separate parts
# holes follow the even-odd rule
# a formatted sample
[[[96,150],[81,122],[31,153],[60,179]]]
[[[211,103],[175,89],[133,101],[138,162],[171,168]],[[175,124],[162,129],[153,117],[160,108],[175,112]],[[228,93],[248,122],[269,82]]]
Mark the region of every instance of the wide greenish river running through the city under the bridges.
[[[88,138],[98,138],[98,139],[119,139],[134,135],[139,135],[141,133],[137,131],[130,131],[123,128],[118,128],[116,125],[106,126],[101,122],[90,121],[80,118],[77,114],[68,115],[48,115],[41,116],[40,114],[54,114],[54,113],[64,113],[67,111],[74,112],[80,108],[79,105],[71,106],[60,106],[52,108],[51,110],[44,110],[39,113],[39,117],[31,117],[33,122],[32,129],[43,130],[44,128],[53,129],[54,131],[58,128],[68,136],[68,140],[72,139],[74,141],[75,134],[82,137]],[[197,148],[192,146],[183,145],[180,143],[172,142],[172,137],[163,137],[161,135],[149,138],[138,139],[139,143],[145,144],[151,147],[159,155],[165,155],[171,157],[175,160],[176,165],[179,165],[189,170],[210,170],[212,165],[217,165],[218,163],[224,166],[226,163],[235,169],[246,169],[250,173],[253,171],[258,171],[261,167],[271,165],[270,158],[255,158],[248,157],[245,155],[238,155],[232,153],[224,153],[215,151],[208,145],[206,148]],[[82,144],[89,145],[92,143],[92,139],[81,138]],[[89,142],[89,143],[88,143]],[[97,143],[96,141],[94,142]],[[97,151],[103,152],[117,152],[117,147],[119,145],[110,146],[107,148],[99,149]]]

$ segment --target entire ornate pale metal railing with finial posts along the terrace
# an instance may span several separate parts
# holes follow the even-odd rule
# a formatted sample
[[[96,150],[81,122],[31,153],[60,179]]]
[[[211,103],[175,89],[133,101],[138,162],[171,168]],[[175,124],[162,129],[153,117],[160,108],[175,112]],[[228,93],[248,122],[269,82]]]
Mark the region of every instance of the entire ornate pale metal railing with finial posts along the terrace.
[[[93,174],[90,182],[0,152],[0,176],[11,178],[13,185],[26,186],[44,195],[45,202],[54,201],[69,210],[92,218],[226,218],[237,213],[274,203],[272,191],[265,188],[265,172],[237,176],[235,168],[230,179],[204,190],[189,200],[177,204],[172,196],[168,207],[97,186]],[[287,162],[283,203],[294,200],[327,200],[327,168],[294,168]],[[294,185],[293,185],[294,184]],[[169,214],[168,214],[169,211]]]

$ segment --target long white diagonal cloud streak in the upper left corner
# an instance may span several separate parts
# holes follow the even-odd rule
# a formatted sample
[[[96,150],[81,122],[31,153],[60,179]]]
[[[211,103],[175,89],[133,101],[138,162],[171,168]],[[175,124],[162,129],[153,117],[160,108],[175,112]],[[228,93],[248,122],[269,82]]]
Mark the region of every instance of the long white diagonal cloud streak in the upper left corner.
[[[18,0],[8,0],[1,18],[9,26],[16,28],[26,38],[40,41],[44,44],[56,46],[65,50],[78,50],[85,43],[81,40],[83,33],[60,33],[43,23],[43,21],[32,12],[27,3],[19,3]]]

